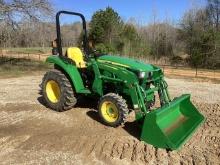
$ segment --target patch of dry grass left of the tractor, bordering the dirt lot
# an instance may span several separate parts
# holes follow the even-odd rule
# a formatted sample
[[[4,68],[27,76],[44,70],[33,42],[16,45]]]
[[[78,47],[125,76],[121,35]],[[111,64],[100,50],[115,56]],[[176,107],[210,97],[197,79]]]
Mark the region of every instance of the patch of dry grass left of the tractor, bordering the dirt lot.
[[[41,61],[31,61],[23,58],[0,58],[1,78],[30,75],[45,72],[51,68],[53,68],[53,65]]]

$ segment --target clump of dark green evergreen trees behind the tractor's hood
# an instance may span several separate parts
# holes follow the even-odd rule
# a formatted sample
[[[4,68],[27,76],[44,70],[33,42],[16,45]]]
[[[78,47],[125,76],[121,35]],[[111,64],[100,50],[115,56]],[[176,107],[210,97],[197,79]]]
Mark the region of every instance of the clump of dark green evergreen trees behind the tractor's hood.
[[[149,52],[135,25],[124,23],[112,8],[94,13],[90,22],[89,39],[99,53],[140,56]]]

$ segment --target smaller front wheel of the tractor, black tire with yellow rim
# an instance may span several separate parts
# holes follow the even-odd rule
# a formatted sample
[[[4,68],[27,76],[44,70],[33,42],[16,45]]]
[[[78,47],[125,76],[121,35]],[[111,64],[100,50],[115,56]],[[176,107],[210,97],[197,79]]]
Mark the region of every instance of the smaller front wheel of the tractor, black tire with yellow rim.
[[[105,125],[117,127],[125,123],[129,110],[121,96],[109,93],[101,97],[98,112]]]

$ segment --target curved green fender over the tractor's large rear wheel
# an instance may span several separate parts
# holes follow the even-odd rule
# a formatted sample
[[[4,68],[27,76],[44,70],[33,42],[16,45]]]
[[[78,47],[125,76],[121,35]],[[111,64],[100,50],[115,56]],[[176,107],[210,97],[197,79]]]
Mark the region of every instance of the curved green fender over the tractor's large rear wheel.
[[[70,77],[71,83],[74,86],[76,93],[91,93],[89,89],[85,88],[76,66],[64,62],[59,56],[49,56],[46,59],[46,62],[58,65]]]

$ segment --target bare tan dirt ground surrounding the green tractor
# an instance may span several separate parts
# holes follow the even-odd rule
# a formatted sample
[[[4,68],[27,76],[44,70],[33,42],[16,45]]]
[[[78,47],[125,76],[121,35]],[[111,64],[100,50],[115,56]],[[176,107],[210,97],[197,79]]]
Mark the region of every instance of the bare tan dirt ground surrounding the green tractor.
[[[173,97],[191,93],[207,118],[179,151],[167,151],[139,141],[131,122],[104,126],[90,103],[45,108],[41,78],[0,79],[0,164],[220,164],[220,84],[167,79]]]

